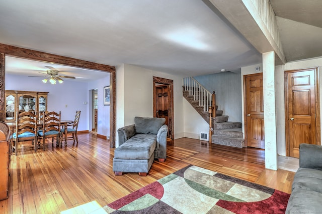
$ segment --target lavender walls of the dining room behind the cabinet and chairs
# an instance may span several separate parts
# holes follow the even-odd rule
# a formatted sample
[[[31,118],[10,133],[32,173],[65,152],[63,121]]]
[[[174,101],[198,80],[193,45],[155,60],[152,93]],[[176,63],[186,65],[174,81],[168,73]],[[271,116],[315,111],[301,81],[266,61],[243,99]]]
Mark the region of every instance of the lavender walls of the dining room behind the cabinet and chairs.
[[[91,83],[75,82],[65,79],[62,84],[57,83],[56,85],[51,85],[49,83],[42,83],[41,78],[38,77],[6,75],[5,89],[49,92],[47,110],[61,111],[61,119],[74,119],[76,110],[81,110],[78,131],[83,131],[89,130],[89,90],[95,86],[95,88],[99,89],[99,96],[103,96],[103,91],[100,92],[100,90],[103,90],[103,87],[107,85],[107,82],[109,83],[109,75],[107,76],[107,78]],[[91,85],[90,88],[89,85]],[[87,102],[88,104],[84,104],[84,102]],[[103,107],[99,106],[99,108]],[[98,130],[99,134],[106,136],[107,133],[109,133],[109,113],[102,114],[100,120],[108,121],[108,123],[101,122]],[[108,126],[106,124],[108,124]]]

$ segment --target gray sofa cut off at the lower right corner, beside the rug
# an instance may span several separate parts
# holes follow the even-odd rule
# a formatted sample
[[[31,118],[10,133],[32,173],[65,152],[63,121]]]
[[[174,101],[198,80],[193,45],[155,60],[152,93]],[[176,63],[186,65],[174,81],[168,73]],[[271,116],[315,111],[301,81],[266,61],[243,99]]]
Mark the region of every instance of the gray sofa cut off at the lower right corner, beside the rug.
[[[299,152],[285,213],[322,213],[322,146],[303,143]]]

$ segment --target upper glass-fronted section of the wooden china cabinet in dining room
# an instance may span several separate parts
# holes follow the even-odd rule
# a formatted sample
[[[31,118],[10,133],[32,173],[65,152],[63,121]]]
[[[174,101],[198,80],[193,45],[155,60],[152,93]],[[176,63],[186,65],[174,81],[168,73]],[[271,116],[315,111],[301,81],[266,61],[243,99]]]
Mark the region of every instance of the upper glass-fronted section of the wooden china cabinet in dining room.
[[[6,122],[16,121],[16,112],[47,111],[48,92],[6,90]]]

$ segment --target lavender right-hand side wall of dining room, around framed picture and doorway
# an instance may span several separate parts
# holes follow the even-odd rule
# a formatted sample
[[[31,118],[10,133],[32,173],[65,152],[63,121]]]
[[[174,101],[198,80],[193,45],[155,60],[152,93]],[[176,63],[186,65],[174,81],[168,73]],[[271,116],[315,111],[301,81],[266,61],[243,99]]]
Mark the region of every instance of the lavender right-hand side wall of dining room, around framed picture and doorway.
[[[88,92],[90,90],[97,89],[97,133],[103,136],[110,136],[110,106],[104,105],[104,86],[110,85],[110,74],[107,73],[105,78],[88,82]],[[89,100],[89,105],[91,105],[91,100]],[[89,121],[91,120],[91,106],[88,105],[88,114]],[[92,129],[91,124],[89,123],[89,129]]]

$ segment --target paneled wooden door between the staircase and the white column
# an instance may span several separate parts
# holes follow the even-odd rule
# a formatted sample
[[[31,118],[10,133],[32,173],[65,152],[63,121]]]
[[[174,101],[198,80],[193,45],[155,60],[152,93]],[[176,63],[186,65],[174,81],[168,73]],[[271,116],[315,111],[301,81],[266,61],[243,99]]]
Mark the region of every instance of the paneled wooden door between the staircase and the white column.
[[[264,149],[263,73],[245,76],[244,84],[246,145]]]

